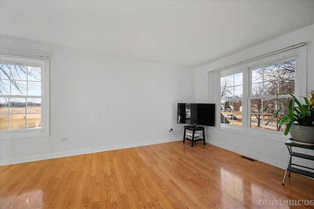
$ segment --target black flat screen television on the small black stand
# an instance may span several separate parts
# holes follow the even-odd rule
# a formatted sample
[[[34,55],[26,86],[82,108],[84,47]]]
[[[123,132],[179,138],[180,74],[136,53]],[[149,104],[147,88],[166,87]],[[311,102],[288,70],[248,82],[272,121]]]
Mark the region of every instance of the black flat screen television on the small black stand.
[[[215,104],[178,103],[177,123],[215,126]]]

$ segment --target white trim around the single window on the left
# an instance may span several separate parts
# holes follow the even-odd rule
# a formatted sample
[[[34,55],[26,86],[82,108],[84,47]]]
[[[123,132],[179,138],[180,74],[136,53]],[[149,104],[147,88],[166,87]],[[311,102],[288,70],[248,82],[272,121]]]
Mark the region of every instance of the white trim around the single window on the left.
[[[49,57],[1,51],[0,62],[43,69],[41,71],[41,129],[1,130],[0,140],[48,136],[50,134]]]

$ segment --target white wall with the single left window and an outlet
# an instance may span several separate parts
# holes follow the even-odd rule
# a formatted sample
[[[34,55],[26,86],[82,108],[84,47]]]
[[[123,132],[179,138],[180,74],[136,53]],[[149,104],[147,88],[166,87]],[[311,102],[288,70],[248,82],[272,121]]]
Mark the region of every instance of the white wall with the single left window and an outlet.
[[[177,103],[194,71],[1,36],[1,50],[50,57],[50,132],[0,141],[1,165],[181,140]],[[68,141],[60,142],[60,137]]]

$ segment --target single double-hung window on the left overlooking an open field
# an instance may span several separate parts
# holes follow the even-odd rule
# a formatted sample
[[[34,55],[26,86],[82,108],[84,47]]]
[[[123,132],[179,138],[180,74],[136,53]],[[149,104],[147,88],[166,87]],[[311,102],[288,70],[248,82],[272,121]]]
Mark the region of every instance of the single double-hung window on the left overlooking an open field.
[[[1,139],[49,135],[49,59],[0,54]]]

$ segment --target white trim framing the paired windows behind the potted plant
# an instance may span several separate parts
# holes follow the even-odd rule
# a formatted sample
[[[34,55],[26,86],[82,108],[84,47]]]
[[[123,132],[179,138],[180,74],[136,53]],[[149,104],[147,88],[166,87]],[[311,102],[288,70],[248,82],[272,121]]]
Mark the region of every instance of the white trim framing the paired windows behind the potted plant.
[[[264,56],[259,59],[255,59],[252,61],[245,62],[243,64],[236,64],[231,67],[223,68],[219,70],[220,78],[227,76],[228,74],[236,74],[239,72],[243,72],[243,100],[242,100],[242,118],[246,118],[246,120],[242,120],[242,126],[230,126],[226,124],[220,124],[220,130],[222,131],[231,131],[242,133],[245,135],[250,135],[254,137],[261,137],[265,139],[275,140],[275,141],[285,141],[287,140],[287,136],[280,131],[267,131],[267,130],[258,130],[249,127],[249,114],[248,114],[248,97],[251,92],[250,86],[250,78],[249,78],[249,68],[264,65],[267,63],[271,63],[273,61],[285,59],[288,57],[298,57],[297,67],[296,67],[296,74],[295,74],[295,95],[298,99],[307,96],[307,45],[297,47],[294,49],[290,49],[284,52],[278,52],[275,54],[271,54],[269,56]],[[302,80],[302,82],[301,82]],[[218,88],[218,85],[217,85]],[[220,91],[220,82],[219,82],[219,91]],[[220,95],[220,94],[219,94]],[[217,98],[216,104],[220,105],[221,99]],[[245,109],[244,109],[245,108]],[[218,119],[216,120],[216,122]],[[220,123],[220,118],[219,118]],[[288,134],[288,137],[290,135]]]

